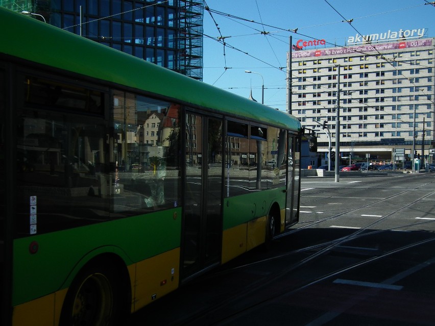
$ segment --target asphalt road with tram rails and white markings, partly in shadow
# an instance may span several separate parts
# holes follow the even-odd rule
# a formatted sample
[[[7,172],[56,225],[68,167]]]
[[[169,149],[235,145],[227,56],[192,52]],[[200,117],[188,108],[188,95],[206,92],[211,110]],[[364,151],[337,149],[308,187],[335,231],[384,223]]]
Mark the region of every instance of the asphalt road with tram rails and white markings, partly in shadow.
[[[303,178],[300,221],[129,325],[433,325],[435,173]]]

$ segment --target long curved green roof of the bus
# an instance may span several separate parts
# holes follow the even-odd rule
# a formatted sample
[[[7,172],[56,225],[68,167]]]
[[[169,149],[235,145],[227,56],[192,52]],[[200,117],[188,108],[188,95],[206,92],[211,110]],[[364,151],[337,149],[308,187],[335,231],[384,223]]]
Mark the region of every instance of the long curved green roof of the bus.
[[[0,54],[178,99],[222,114],[301,131],[300,121],[285,112],[1,7],[0,29]]]

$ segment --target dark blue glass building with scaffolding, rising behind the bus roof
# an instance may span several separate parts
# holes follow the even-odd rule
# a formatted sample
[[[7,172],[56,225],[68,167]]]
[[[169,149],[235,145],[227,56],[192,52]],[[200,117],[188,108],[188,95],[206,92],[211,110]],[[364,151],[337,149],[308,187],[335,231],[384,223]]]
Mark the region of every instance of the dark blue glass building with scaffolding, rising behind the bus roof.
[[[202,80],[200,0],[0,0],[0,6]]]

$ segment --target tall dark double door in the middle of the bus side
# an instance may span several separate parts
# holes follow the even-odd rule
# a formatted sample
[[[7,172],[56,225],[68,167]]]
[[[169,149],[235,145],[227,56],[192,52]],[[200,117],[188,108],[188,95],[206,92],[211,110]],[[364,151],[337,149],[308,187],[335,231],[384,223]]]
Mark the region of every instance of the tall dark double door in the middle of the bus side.
[[[185,115],[182,276],[221,262],[223,120]]]

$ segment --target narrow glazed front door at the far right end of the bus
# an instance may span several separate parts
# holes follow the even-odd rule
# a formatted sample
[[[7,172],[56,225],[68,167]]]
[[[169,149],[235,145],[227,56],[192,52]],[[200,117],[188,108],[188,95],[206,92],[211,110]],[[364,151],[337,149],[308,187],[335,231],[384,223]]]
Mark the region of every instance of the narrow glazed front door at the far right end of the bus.
[[[301,163],[301,138],[288,135],[287,138],[287,203],[285,210],[285,227],[290,227],[299,221],[300,198],[300,163]]]

